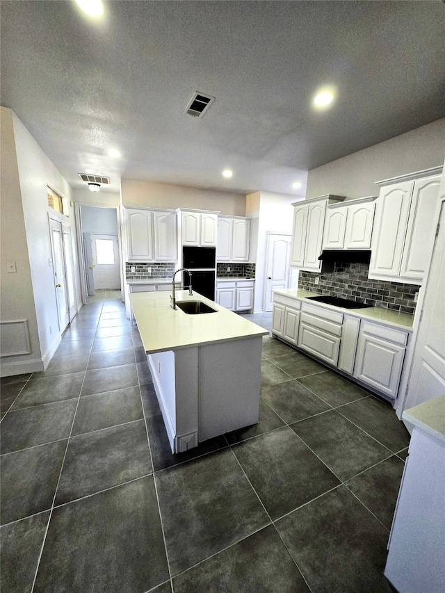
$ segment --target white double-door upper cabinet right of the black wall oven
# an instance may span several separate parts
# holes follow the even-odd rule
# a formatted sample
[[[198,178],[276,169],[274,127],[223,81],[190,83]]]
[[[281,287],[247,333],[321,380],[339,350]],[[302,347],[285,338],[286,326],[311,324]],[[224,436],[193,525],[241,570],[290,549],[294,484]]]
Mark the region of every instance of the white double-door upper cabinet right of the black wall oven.
[[[216,261],[249,261],[250,219],[218,216]]]

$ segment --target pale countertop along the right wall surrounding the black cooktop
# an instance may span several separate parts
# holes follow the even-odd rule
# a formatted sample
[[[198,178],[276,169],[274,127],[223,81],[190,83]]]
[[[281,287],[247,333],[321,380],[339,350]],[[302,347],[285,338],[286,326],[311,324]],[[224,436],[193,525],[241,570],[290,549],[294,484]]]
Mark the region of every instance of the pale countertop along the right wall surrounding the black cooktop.
[[[302,289],[282,289],[274,290],[277,295],[283,295],[289,298],[296,298],[298,300],[306,300],[312,296],[320,296],[321,293],[314,293],[311,291],[305,291]],[[320,305],[327,307],[327,309],[333,309],[334,311],[342,311],[348,315],[359,317],[361,319],[368,319],[369,321],[378,321],[387,325],[394,325],[400,327],[403,330],[412,331],[412,324],[414,322],[414,315],[408,313],[401,313],[401,311],[391,311],[391,309],[384,309],[382,307],[366,307],[366,309],[343,309],[343,307],[336,307],[333,304],[326,304],[316,302],[313,300],[307,300],[310,304]]]

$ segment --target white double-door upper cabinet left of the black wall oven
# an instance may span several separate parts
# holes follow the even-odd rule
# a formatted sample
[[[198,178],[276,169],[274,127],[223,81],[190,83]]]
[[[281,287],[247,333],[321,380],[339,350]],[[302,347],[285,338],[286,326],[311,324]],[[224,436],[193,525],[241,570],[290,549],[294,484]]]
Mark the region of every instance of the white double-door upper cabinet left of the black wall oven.
[[[127,261],[176,261],[177,217],[173,210],[126,208]]]

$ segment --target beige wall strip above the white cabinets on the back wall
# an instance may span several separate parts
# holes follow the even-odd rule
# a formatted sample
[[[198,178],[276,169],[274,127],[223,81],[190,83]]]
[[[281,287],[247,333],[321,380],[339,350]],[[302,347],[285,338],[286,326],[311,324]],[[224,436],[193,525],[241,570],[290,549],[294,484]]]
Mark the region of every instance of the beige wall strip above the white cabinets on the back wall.
[[[122,204],[152,208],[195,208],[245,216],[245,195],[189,188],[152,181],[121,180]]]

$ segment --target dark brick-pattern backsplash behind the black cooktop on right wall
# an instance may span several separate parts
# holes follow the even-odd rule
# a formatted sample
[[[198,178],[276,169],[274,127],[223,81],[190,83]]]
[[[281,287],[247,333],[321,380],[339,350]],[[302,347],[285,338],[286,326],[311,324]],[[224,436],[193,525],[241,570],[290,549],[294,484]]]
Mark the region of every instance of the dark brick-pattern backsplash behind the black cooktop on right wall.
[[[368,271],[368,263],[335,263],[333,272],[321,274],[300,271],[298,288],[414,314],[414,295],[420,286],[373,280]],[[319,284],[315,284],[316,278]]]

